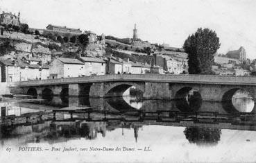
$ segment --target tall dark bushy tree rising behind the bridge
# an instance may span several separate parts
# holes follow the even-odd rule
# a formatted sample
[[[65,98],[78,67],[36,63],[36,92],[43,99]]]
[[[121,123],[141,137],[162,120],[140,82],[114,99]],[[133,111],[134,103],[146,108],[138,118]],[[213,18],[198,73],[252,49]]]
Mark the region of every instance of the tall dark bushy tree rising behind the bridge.
[[[209,28],[198,28],[189,35],[183,45],[189,57],[189,74],[213,74],[214,53],[220,45],[219,37]]]

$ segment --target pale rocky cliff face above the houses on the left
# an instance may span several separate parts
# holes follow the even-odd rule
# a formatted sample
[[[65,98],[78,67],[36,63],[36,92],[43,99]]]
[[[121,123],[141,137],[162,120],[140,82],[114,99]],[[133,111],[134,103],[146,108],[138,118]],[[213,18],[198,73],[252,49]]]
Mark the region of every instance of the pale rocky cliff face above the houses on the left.
[[[4,33],[0,35],[0,57],[15,58],[17,56],[31,56],[40,58],[43,63],[51,62],[55,56],[74,58],[75,55],[103,56],[105,45],[88,44],[86,47],[71,42],[60,42],[38,35],[24,33]]]

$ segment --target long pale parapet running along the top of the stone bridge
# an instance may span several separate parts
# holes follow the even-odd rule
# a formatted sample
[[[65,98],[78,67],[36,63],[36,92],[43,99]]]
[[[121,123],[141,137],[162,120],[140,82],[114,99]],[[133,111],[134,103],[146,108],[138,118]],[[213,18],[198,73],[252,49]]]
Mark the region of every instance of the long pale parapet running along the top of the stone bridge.
[[[12,83],[10,87],[39,85],[62,85],[69,83],[100,83],[112,81],[144,81],[157,83],[201,83],[221,85],[256,85],[254,76],[216,76],[216,75],[162,75],[162,74],[116,74],[103,76],[85,76],[77,78],[57,78],[30,80]]]

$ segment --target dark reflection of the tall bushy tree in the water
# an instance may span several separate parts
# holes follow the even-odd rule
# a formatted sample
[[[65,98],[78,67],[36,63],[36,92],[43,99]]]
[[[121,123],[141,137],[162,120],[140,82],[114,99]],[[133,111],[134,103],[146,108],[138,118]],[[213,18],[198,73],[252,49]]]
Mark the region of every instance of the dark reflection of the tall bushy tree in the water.
[[[189,127],[184,130],[189,143],[197,145],[216,145],[221,139],[221,130],[218,128]]]

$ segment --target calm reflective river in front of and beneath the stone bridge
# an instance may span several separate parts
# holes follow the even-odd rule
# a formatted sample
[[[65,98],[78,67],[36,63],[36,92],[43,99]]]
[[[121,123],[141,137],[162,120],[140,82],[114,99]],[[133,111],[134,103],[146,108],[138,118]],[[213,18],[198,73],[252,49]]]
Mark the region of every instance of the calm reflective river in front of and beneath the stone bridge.
[[[255,106],[248,96],[222,103],[38,96],[9,98],[0,102],[0,108],[1,162],[32,162],[35,157],[38,162],[57,157],[58,162],[256,161]],[[92,109],[92,119],[83,119],[87,114],[56,112],[54,118],[52,114],[52,110],[87,108]],[[49,114],[37,117],[42,112]]]

